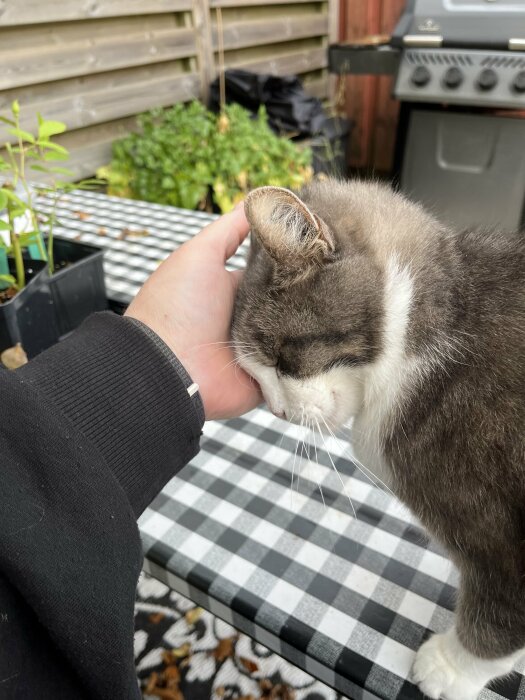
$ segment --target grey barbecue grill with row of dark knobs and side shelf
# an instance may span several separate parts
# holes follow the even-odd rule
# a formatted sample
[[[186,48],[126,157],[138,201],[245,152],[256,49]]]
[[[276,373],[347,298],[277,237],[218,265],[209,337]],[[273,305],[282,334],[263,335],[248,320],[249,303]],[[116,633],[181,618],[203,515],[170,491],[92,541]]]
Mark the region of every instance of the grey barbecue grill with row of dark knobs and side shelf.
[[[401,189],[456,225],[525,223],[525,0],[412,0],[335,73],[394,74]]]

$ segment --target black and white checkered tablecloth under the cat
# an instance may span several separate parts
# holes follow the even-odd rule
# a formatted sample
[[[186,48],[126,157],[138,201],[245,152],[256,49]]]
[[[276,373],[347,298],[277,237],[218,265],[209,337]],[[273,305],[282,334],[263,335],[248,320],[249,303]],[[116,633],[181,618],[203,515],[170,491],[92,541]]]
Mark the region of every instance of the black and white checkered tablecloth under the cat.
[[[106,249],[121,302],[213,218],[77,192],[58,214],[59,235]],[[244,247],[231,266],[243,260]],[[207,423],[140,519],[145,569],[353,700],[422,698],[410,668],[452,622],[457,572],[347,440],[325,440],[265,409]],[[483,700],[525,698],[519,673],[494,687]]]

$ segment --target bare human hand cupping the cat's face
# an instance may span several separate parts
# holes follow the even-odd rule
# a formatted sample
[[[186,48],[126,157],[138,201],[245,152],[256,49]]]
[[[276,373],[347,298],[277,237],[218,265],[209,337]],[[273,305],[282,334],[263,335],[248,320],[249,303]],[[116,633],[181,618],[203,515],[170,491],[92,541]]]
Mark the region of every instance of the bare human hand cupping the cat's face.
[[[243,206],[209,224],[151,275],[126,316],[149,326],[199,385],[206,419],[231,418],[263,400],[237,366],[230,337],[242,273],[224,264],[248,234]]]

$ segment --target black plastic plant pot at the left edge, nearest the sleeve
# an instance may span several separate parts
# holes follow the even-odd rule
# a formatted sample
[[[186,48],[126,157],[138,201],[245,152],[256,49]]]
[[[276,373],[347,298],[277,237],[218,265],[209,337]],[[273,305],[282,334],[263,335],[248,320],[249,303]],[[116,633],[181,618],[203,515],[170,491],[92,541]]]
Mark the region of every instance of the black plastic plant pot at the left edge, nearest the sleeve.
[[[13,261],[9,261],[15,274]],[[22,343],[29,358],[58,341],[47,263],[24,260],[26,286],[10,301],[0,304],[0,351]]]

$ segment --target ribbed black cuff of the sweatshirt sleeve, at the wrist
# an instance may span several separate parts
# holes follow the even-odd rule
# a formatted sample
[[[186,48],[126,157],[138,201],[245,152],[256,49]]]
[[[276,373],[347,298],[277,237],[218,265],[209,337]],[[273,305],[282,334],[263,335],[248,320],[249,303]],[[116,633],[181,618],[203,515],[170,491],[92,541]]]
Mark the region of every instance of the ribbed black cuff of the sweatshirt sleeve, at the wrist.
[[[99,450],[138,516],[199,450],[204,411],[153,331],[110,312],[17,370]]]

